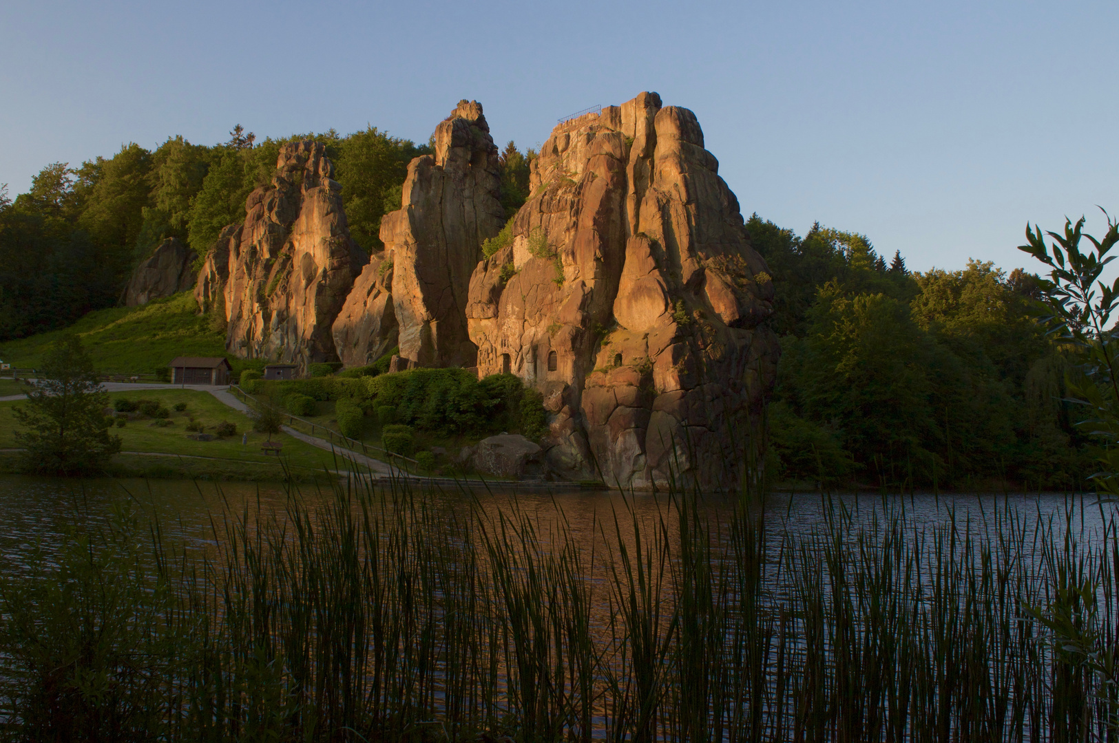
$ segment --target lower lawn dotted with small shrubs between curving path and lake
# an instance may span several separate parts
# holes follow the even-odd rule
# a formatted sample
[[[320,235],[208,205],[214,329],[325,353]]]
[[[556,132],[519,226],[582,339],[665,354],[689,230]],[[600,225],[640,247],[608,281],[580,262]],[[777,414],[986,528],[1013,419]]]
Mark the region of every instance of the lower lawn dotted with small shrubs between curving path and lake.
[[[291,468],[293,473],[310,475],[321,473],[323,466],[337,469],[339,466],[348,468],[348,465],[336,463],[330,451],[319,449],[309,444],[294,439],[286,434],[279,434],[272,437],[273,441],[279,441],[282,446],[282,456],[265,455],[261,451],[261,445],[266,437],[252,430],[248,418],[232,408],[223,404],[217,398],[208,392],[197,390],[137,390],[111,392],[111,399],[126,398],[129,400],[158,400],[164,407],[172,410],[169,420],[170,426],[153,426],[156,421],[148,418],[130,420],[123,428],[113,428],[112,434],[121,437],[122,454],[115,457],[116,460],[128,464],[131,468],[172,467],[178,470],[186,468],[198,474],[210,474],[220,476],[227,473],[227,478],[234,479],[236,473],[244,473],[246,467],[252,470],[264,470],[271,473],[271,478],[283,477],[283,466]],[[178,412],[173,410],[176,403],[185,402],[186,410]],[[16,420],[12,416],[12,408],[21,402],[0,402],[0,449],[15,448],[18,446],[15,439]],[[187,438],[186,425],[196,420],[205,426],[204,432],[213,432],[214,426],[222,421],[229,421],[237,427],[236,436],[228,438],[217,438],[211,441],[197,441]],[[243,439],[244,437],[244,439]],[[245,440],[243,444],[242,441]],[[149,457],[145,455],[133,455],[123,453],[158,453],[177,455],[182,457]],[[206,459],[188,459],[188,457],[206,457]],[[158,461],[159,460],[159,461]],[[257,477],[248,477],[257,479]]]

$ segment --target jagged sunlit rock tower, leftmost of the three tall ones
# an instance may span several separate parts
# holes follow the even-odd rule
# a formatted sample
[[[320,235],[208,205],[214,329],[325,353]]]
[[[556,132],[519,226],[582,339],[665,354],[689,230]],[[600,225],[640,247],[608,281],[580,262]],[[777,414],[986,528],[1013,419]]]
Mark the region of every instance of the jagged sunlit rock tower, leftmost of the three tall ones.
[[[325,145],[285,144],[272,184],[248,194],[244,225],[226,228],[207,257],[196,295],[204,307],[224,301],[226,349],[237,355],[301,371],[338,358],[331,326],[366,257],[332,175]]]

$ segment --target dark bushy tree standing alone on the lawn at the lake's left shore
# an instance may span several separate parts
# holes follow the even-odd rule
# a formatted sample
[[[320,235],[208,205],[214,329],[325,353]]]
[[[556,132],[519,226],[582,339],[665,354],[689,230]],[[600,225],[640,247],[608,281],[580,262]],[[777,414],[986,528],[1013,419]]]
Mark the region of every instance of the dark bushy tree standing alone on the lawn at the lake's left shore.
[[[26,407],[13,409],[22,427],[16,440],[25,449],[26,468],[49,475],[103,470],[121,450],[121,439],[109,435],[102,413],[107,403],[81,340],[68,335],[56,343],[37,383],[28,387]]]

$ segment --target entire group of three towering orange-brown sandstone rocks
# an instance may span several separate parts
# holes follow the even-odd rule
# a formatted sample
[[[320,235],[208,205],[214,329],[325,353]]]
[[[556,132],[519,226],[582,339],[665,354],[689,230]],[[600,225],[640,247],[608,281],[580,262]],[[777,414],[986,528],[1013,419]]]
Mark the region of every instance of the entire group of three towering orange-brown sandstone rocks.
[[[556,126],[485,258],[505,215],[478,103],[408,165],[367,265],[331,170],[322,145],[285,145],[207,257],[196,296],[229,350],[354,366],[398,343],[393,369],[511,372],[543,393],[543,456],[571,479],[733,486],[762,454],[773,285],[690,111],[642,93]]]

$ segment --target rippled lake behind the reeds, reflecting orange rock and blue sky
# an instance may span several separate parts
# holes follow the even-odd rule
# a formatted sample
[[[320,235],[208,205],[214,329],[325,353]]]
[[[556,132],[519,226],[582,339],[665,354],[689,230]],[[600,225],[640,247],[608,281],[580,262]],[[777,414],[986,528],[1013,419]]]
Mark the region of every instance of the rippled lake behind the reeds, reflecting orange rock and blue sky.
[[[393,739],[438,724],[452,739],[1059,741],[1119,711],[1070,649],[1119,642],[1113,512],[1090,497],[290,495],[4,477],[0,551],[18,572],[32,545],[49,553],[128,499],[210,560],[179,583],[194,603],[160,612],[208,628],[178,641],[189,667],[248,696],[154,674],[177,679],[143,705],[178,721],[169,739],[197,714],[182,698],[209,699],[231,736],[263,724],[245,701],[271,698],[278,731]],[[66,615],[96,615],[104,581],[82,574]],[[1083,631],[1056,634],[1059,616]],[[135,626],[119,630],[129,648],[164,631]]]

